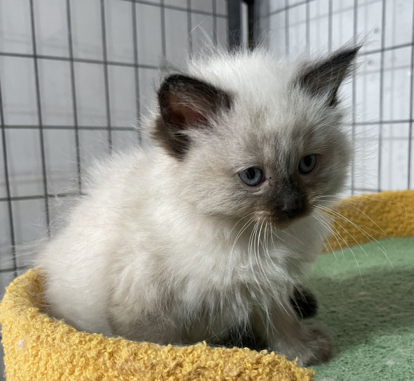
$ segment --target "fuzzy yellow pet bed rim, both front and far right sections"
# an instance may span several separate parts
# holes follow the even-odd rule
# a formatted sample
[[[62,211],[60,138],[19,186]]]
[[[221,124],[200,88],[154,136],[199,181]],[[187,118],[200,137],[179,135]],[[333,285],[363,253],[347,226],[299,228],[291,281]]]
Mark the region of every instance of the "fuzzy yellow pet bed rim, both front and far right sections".
[[[343,200],[336,212],[331,212],[335,216],[335,235],[340,234],[343,239],[330,238],[327,247],[355,245],[386,236],[414,235],[413,201],[413,191],[383,192]],[[368,234],[363,234],[356,225]],[[7,287],[1,302],[8,381],[306,381],[313,378],[313,371],[266,351],[210,348],[206,344],[163,347],[76,331],[41,311],[41,285],[38,271],[29,270]]]

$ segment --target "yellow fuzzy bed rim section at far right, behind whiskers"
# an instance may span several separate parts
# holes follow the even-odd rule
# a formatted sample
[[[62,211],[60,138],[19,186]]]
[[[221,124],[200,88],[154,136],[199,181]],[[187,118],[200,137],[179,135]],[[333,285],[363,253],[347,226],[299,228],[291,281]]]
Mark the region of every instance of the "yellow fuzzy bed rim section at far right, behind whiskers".
[[[326,249],[339,249],[386,237],[414,236],[414,190],[344,198],[327,212],[334,218]]]

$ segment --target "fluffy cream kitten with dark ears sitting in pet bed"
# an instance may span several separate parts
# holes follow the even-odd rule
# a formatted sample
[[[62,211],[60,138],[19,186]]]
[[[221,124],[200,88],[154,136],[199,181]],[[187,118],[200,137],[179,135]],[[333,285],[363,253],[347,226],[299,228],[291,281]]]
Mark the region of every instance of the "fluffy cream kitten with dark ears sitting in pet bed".
[[[327,234],[318,196],[346,180],[337,93],[358,50],[298,65],[221,53],[166,76],[145,123],[152,144],[95,168],[37,256],[50,315],[159,344],[253,332],[300,365],[329,360],[298,290]]]

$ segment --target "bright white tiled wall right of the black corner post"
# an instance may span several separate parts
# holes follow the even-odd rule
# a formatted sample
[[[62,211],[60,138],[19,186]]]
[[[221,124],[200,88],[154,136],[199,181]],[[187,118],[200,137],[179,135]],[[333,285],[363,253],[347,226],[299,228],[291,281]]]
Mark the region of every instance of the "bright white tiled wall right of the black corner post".
[[[351,80],[343,89],[345,102],[355,105],[357,152],[350,192],[414,187],[413,161],[408,184],[413,3],[269,0],[267,14],[261,15],[268,21],[270,49],[277,56],[288,53],[294,59],[302,52],[328,52],[366,38],[355,83]]]

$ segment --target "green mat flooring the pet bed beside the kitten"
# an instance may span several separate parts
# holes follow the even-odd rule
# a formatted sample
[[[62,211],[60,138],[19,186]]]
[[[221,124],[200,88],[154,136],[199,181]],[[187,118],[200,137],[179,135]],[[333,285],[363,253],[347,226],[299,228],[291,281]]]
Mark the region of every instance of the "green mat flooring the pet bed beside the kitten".
[[[315,262],[319,314],[309,324],[326,327],[336,353],[313,367],[317,381],[414,380],[414,238],[379,243]]]

